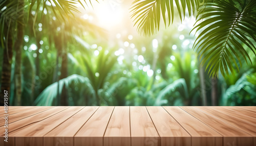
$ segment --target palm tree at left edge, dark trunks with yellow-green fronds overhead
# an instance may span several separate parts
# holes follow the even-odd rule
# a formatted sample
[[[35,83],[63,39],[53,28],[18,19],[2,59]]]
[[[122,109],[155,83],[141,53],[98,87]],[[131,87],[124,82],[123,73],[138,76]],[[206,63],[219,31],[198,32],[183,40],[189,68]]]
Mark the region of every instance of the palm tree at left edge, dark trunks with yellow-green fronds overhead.
[[[96,0],[97,1],[97,0]],[[83,1],[86,3],[86,1]],[[90,1],[91,3],[91,1]],[[3,72],[2,72],[2,84],[1,84],[1,98],[3,98],[3,91],[10,90],[10,80],[11,80],[11,64],[12,64],[12,54],[13,54],[13,42],[14,51],[15,51],[15,90],[16,90],[16,99],[17,105],[21,104],[21,95],[22,95],[22,46],[23,46],[23,37],[24,37],[24,27],[25,21],[24,16],[28,14],[30,17],[32,13],[32,8],[35,8],[36,11],[33,12],[34,15],[34,25],[37,20],[40,7],[43,11],[51,11],[55,14],[57,19],[69,19],[69,14],[74,16],[74,12],[79,12],[77,10],[77,5],[82,5],[80,0],[77,1],[68,1],[68,0],[59,0],[59,1],[28,1],[28,0],[15,0],[8,1],[4,0],[0,2],[0,27],[1,27],[1,42],[4,49],[4,61],[3,61]],[[83,8],[85,8],[83,6]],[[41,13],[43,15],[44,13]],[[59,15],[57,15],[59,14]],[[16,30],[16,33],[14,33]],[[12,35],[17,34],[17,35]],[[36,32],[34,31],[34,34]],[[3,100],[1,100],[1,105]]]

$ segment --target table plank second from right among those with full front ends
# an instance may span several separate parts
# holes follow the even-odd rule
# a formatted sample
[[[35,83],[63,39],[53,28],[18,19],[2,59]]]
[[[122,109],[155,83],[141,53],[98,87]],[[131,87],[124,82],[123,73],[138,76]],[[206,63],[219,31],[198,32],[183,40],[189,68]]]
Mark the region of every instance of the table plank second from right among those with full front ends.
[[[164,107],[178,123],[191,135],[191,145],[193,146],[220,146],[222,145],[222,135],[211,129],[200,120],[191,116],[179,107]]]

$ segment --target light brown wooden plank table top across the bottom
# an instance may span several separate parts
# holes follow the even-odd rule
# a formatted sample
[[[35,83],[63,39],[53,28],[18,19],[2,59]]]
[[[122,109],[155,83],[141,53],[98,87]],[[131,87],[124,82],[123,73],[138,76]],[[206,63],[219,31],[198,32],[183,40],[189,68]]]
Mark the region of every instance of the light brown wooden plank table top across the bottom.
[[[256,146],[256,107],[8,107],[8,128],[0,109],[0,145]]]

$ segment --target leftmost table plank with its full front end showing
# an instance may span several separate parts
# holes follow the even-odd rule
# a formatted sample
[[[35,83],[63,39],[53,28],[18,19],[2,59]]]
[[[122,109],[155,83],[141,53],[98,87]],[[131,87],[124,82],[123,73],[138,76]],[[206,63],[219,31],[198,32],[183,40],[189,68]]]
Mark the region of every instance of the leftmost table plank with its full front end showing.
[[[59,112],[54,114],[47,119],[41,120],[37,123],[30,124],[23,128],[17,129],[12,132],[15,137],[16,146],[25,146],[25,145],[43,145],[43,136],[48,132],[53,130],[55,127],[63,123],[75,113],[80,111],[83,107],[70,107],[65,110],[65,112]]]

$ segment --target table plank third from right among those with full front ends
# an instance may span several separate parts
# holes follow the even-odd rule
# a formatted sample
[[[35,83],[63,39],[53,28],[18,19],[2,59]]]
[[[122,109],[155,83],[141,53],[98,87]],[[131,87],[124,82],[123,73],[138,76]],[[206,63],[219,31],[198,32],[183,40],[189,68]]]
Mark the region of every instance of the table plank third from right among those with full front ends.
[[[191,136],[163,107],[146,107],[159,133],[162,146],[190,146]]]

